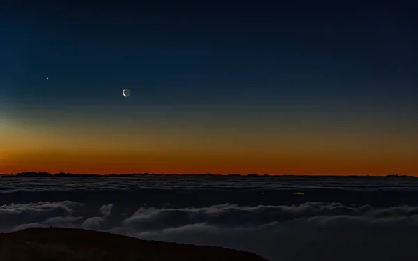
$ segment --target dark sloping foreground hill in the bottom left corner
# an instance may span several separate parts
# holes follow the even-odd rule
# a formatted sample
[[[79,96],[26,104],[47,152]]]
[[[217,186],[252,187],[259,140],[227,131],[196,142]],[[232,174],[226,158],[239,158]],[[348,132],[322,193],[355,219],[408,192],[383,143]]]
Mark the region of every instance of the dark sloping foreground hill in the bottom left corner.
[[[0,234],[0,261],[6,260],[267,261],[245,251],[72,228],[29,228]]]

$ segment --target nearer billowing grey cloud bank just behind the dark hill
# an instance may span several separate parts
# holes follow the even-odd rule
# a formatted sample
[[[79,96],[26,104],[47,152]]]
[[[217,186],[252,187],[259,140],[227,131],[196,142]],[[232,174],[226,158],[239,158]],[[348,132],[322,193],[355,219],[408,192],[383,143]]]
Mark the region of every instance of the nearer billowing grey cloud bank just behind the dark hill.
[[[140,239],[243,249],[272,261],[418,258],[418,207],[294,205],[95,206],[38,202],[0,206],[2,231],[36,226],[103,230]]]

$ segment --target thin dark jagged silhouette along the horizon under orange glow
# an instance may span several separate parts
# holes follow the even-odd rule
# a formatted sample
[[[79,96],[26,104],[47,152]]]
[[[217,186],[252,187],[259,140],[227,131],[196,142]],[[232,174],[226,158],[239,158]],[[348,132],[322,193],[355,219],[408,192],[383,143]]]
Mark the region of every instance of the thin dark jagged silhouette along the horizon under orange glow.
[[[224,176],[222,174],[211,174],[211,173],[204,173],[204,174],[156,174],[156,173],[128,173],[128,174],[86,174],[86,173],[48,173],[48,172],[22,172],[22,173],[5,173],[0,174],[0,177],[138,177],[138,176]],[[407,176],[407,175],[387,175],[387,176],[320,176],[320,175],[269,175],[269,174],[228,174],[227,176],[231,177],[310,177],[310,178],[317,178],[317,177],[407,177],[407,178],[417,178],[415,176]]]

